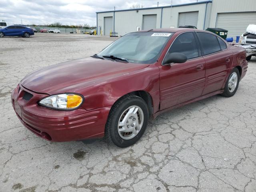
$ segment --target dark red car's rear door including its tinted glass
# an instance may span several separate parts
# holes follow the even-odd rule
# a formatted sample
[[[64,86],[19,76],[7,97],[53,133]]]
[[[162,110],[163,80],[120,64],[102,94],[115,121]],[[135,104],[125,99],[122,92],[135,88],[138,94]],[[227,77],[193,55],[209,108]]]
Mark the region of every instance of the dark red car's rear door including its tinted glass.
[[[206,84],[203,95],[221,90],[233,60],[226,42],[208,32],[196,32],[206,62]]]

